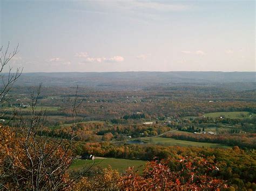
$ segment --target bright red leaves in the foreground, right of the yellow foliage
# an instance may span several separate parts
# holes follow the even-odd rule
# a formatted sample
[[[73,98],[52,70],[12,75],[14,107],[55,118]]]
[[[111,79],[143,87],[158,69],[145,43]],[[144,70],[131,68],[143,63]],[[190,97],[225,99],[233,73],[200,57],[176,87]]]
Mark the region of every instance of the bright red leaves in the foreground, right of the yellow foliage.
[[[202,166],[207,168],[208,162],[200,158],[191,159],[189,157],[178,160],[181,169],[170,169],[167,161],[147,162],[142,176],[133,172],[130,168],[121,177],[122,188],[124,190],[198,190],[198,189],[217,189],[225,187],[224,182],[214,179],[203,171]],[[210,168],[211,169],[211,168]]]

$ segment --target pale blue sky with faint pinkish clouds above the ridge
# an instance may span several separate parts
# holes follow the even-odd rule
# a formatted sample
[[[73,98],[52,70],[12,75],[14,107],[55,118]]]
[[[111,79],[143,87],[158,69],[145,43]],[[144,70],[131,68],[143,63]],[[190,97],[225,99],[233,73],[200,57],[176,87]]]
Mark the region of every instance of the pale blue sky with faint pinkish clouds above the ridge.
[[[24,72],[255,71],[254,1],[0,0]]]

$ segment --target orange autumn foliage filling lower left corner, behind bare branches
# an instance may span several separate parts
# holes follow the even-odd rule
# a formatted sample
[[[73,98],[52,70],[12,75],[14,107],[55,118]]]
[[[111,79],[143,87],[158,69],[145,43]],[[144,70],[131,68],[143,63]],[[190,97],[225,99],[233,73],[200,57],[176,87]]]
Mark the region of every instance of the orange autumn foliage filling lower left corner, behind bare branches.
[[[71,163],[71,153],[65,153],[63,146],[53,142],[41,142],[37,137],[27,139],[15,130],[0,126],[0,186],[5,189],[66,187],[69,173],[63,170]]]

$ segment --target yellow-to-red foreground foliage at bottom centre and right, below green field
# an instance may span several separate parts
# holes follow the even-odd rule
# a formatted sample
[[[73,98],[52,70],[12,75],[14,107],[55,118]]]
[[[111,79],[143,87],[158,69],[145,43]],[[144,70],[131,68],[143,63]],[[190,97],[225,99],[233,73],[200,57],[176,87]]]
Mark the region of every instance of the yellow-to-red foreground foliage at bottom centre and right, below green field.
[[[133,168],[127,169],[125,174],[119,174],[109,167],[92,179],[82,179],[75,188],[77,190],[216,190],[227,187],[223,180],[208,175],[208,172],[215,171],[216,167],[206,160],[184,158],[177,162],[179,169],[171,169],[168,161],[147,162],[142,175]]]

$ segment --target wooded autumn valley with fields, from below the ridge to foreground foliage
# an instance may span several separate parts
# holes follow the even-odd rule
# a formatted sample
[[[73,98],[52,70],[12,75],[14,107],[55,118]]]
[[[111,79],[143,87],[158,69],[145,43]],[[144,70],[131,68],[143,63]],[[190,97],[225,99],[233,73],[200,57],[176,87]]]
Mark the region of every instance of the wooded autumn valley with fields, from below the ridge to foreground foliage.
[[[35,166],[24,165],[40,164],[36,157],[46,153],[52,156],[44,162],[65,166],[59,170],[57,165],[57,171],[49,168],[49,173],[62,177],[54,179],[60,185],[56,188],[126,189],[131,182],[133,189],[256,188],[255,89],[234,89],[232,83],[226,89],[205,82],[136,90],[102,87],[43,83],[39,88],[15,84],[10,89],[1,118],[4,187],[31,186],[23,179]],[[33,146],[26,147],[28,143]],[[31,158],[22,145],[33,148]],[[90,160],[90,155],[96,158]],[[120,160],[118,165],[122,160],[134,162],[125,171],[111,162],[114,159]],[[8,161],[11,166],[6,166]],[[102,161],[110,166],[101,165]],[[6,178],[10,173],[16,180]],[[44,182],[50,187],[44,175],[39,177],[38,186]],[[104,186],[98,182],[103,177]]]

